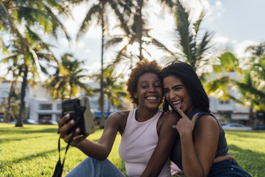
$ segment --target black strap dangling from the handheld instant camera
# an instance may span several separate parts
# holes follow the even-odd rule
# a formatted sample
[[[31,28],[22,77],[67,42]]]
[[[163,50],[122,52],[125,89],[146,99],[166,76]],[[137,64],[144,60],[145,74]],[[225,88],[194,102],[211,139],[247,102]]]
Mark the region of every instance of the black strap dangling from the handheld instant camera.
[[[85,111],[85,107],[81,107],[81,111],[82,111],[82,114],[83,114],[83,111]],[[79,121],[80,121],[80,116],[78,116],[78,118],[76,119],[76,124],[78,124]],[[70,143],[73,140],[73,136],[75,136],[75,133],[74,132],[70,136],[70,139],[69,139],[68,144],[66,146],[66,152],[64,153],[63,163],[61,163],[61,152],[60,152],[61,151],[61,143],[60,143],[60,136],[59,136],[59,139],[58,139],[59,160],[56,163],[56,168],[54,169],[54,172],[53,172],[53,176],[52,177],[61,177],[62,176],[62,173],[63,173],[63,165],[64,165],[64,161],[66,160],[66,153],[68,151],[68,148],[70,146]]]

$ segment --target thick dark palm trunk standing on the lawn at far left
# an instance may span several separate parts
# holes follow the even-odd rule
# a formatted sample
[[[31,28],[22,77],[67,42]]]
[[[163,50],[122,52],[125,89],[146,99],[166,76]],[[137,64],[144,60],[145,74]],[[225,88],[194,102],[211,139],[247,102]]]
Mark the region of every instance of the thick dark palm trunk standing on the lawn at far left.
[[[24,118],[24,109],[25,109],[25,95],[26,95],[26,85],[28,76],[28,66],[25,64],[25,71],[21,86],[21,99],[20,99],[20,108],[19,108],[19,117],[16,120],[16,126],[23,126],[23,118]]]

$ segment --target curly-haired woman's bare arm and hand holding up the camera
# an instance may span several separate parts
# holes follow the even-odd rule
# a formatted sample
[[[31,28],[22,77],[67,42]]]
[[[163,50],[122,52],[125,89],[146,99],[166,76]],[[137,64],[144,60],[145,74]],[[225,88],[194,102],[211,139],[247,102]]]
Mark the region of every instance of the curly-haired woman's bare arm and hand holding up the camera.
[[[120,114],[121,113],[113,113],[108,117],[103,134],[98,142],[90,141],[86,139],[86,136],[75,136],[71,142],[71,146],[79,148],[85,155],[92,158],[97,158],[98,160],[107,158],[120,128]],[[64,124],[66,120],[68,120],[68,117],[65,116],[59,121],[59,132],[61,138],[68,142],[71,134],[67,135],[67,131],[73,126],[74,122],[70,121]],[[78,134],[79,131],[80,130],[77,129],[76,134]]]

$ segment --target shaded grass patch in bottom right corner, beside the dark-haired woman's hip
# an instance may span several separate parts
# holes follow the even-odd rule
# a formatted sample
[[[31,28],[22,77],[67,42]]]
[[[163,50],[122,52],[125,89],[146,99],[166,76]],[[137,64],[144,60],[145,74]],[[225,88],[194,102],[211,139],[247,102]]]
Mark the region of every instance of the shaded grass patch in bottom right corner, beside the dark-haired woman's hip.
[[[249,149],[242,149],[235,145],[229,145],[229,153],[236,158],[239,166],[244,168],[251,176],[263,177],[265,174],[265,154],[257,153]]]

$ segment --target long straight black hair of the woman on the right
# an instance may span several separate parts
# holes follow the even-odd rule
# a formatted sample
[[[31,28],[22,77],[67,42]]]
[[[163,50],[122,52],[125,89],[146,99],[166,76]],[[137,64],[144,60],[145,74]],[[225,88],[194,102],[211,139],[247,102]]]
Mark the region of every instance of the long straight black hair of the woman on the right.
[[[204,91],[202,82],[199,80],[192,66],[182,61],[170,62],[161,71],[162,79],[167,76],[175,76],[182,81],[192,98],[194,108],[199,108],[200,111],[210,112],[209,97]],[[170,103],[165,99],[163,110],[169,111],[169,106],[171,107]],[[172,110],[175,109],[172,108]]]

